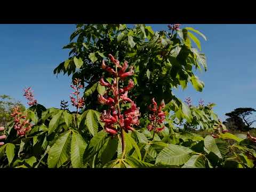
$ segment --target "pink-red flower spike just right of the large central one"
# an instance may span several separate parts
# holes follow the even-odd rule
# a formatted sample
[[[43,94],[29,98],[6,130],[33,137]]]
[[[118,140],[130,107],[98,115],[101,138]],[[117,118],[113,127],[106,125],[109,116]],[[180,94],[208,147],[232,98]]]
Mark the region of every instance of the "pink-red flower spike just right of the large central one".
[[[155,101],[155,98],[152,100],[152,106],[149,106],[149,110],[153,111],[153,114],[149,115],[149,120],[151,121],[148,124],[148,131],[155,130],[155,132],[160,132],[164,129],[164,126],[162,126],[162,123],[165,120],[165,112],[162,111],[162,109],[165,107],[164,101],[160,103],[160,105],[157,107],[157,103]]]

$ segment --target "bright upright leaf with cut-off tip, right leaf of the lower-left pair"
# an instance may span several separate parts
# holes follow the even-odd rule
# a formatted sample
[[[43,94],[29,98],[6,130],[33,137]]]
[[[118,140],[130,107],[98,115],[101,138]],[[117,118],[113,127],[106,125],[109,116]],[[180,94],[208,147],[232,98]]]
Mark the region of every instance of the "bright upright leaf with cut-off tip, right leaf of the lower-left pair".
[[[83,155],[86,146],[87,143],[84,141],[83,137],[73,131],[70,147],[70,157],[73,168],[83,167]]]

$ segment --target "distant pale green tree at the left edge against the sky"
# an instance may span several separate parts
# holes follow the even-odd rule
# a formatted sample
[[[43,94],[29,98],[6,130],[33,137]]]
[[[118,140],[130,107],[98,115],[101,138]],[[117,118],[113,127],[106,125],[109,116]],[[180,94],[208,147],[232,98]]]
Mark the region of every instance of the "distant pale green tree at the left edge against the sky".
[[[25,106],[19,101],[14,101],[9,95],[0,95],[0,126],[6,126],[11,119],[12,108],[17,105],[21,107],[21,110],[25,110]]]

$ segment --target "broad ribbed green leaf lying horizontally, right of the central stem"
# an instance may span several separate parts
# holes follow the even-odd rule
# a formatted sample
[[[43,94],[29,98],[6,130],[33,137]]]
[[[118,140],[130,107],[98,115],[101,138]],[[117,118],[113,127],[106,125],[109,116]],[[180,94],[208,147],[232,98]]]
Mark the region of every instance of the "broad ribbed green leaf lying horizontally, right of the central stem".
[[[190,153],[193,150],[187,147],[169,144],[157,155],[156,164],[182,165],[188,161]]]

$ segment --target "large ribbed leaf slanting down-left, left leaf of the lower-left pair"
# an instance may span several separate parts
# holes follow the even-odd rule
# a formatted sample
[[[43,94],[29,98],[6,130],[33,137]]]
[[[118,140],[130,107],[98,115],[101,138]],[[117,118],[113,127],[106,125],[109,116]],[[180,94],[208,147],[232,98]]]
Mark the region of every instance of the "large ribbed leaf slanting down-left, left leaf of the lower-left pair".
[[[70,131],[63,134],[51,147],[47,164],[50,168],[57,166],[59,168],[69,159],[70,151]]]

